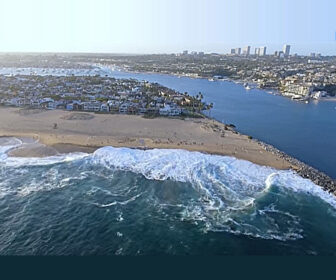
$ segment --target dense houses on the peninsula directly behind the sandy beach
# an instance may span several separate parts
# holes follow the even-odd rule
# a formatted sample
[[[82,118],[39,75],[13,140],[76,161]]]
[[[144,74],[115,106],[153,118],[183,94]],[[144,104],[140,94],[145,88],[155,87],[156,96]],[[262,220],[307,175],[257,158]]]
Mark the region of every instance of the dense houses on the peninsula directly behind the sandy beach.
[[[158,84],[101,76],[0,75],[0,105],[148,116],[199,113],[204,104]]]

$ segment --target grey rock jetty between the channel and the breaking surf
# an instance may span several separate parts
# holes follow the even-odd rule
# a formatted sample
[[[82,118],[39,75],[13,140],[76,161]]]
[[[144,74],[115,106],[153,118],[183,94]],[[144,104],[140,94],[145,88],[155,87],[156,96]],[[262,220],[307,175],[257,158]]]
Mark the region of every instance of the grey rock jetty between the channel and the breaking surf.
[[[278,150],[272,145],[266,144],[259,140],[256,141],[261,147],[263,147],[266,151],[272,152],[273,154],[278,155],[280,158],[288,161],[293,165],[293,170],[297,172],[301,177],[310,179],[316,185],[322,187],[325,191],[332,193],[336,196],[336,180],[333,180],[328,175],[324,174],[321,171],[293,158],[284,152]]]

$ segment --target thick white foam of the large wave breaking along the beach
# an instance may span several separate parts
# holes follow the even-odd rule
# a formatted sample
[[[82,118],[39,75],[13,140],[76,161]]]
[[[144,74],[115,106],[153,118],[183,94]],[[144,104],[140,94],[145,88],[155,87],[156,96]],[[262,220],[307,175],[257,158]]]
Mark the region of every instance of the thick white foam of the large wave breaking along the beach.
[[[251,205],[271,186],[317,196],[336,208],[336,199],[294,171],[276,170],[233,157],[208,155],[185,150],[136,150],[104,147],[93,154],[96,163],[142,174],[152,180],[190,182],[200,186],[217,203],[239,201]],[[212,203],[216,203],[211,201]],[[237,205],[236,205],[237,206]]]

